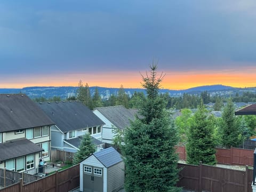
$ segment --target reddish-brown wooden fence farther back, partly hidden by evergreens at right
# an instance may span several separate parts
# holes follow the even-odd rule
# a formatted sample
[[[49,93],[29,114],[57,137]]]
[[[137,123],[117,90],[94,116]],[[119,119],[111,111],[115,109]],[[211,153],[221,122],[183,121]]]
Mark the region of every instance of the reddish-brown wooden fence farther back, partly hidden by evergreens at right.
[[[179,158],[186,160],[185,146],[175,146]],[[231,147],[230,149],[216,149],[216,159],[218,163],[228,165],[250,165],[253,166],[253,153],[254,150],[238,149]]]

